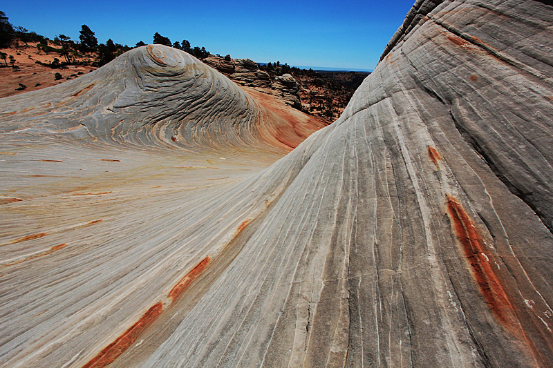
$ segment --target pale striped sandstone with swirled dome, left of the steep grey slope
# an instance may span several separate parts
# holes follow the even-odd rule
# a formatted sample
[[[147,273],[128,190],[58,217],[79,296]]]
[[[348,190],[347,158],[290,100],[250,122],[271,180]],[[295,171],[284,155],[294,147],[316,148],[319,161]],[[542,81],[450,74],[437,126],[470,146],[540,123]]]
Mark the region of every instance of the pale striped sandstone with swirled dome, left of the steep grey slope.
[[[259,172],[324,126],[159,45],[1,99],[0,121],[1,367],[101,367],[138,342],[285,188]]]

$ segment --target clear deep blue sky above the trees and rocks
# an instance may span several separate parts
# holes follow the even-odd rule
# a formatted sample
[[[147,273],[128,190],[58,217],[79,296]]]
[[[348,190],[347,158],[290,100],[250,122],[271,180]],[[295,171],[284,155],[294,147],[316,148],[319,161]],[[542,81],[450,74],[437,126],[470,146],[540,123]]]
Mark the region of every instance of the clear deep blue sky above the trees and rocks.
[[[27,0],[3,1],[10,23],[78,41],[134,46],[159,32],[213,54],[257,62],[372,70],[415,0]]]

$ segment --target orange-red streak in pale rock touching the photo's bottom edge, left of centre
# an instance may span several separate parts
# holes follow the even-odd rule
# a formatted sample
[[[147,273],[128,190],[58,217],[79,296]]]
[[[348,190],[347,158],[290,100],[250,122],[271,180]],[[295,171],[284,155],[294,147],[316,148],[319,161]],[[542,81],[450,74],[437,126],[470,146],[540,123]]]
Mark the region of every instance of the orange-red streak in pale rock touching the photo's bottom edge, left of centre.
[[[158,302],[153,305],[144,316],[138,320],[134,325],[129,327],[124,333],[119,336],[115,341],[110,345],[104,347],[100,353],[92,358],[86,365],[83,365],[82,368],[102,368],[106,365],[111,364],[115,359],[117,359],[121,354],[124,353],[126,349],[135,342],[142,330],[144,330],[147,325],[156,320],[161,312],[163,311],[163,303]]]

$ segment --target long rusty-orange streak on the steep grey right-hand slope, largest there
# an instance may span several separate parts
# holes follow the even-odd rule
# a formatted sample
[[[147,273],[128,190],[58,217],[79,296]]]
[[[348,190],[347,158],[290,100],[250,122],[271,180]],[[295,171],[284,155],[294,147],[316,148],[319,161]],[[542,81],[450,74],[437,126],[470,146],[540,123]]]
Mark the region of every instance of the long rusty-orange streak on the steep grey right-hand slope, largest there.
[[[487,249],[474,224],[459,202],[449,195],[447,196],[447,208],[462,249],[471,264],[480,293],[496,318],[507,325],[505,327],[514,327],[512,325],[514,316],[512,304],[494,273],[493,267],[482,255]]]

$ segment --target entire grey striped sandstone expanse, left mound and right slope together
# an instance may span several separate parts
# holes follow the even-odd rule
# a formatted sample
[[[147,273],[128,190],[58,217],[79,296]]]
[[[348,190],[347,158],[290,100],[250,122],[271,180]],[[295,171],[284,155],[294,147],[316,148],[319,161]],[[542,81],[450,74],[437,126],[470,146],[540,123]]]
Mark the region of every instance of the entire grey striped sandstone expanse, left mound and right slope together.
[[[284,157],[163,46],[0,100],[1,367],[550,366],[552,26],[417,1]]]

